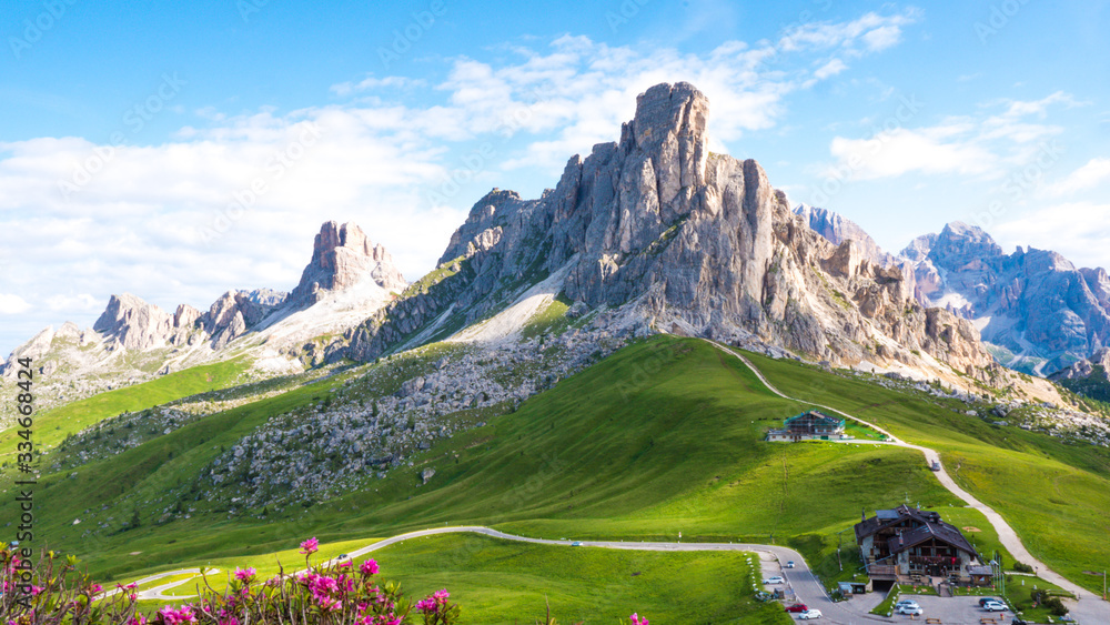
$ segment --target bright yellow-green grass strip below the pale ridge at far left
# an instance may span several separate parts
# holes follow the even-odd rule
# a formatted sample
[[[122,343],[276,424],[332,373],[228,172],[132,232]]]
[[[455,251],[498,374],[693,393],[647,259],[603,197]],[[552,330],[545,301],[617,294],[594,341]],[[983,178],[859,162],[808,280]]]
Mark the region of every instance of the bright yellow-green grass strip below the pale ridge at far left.
[[[194,366],[43,412],[34,417],[36,445],[40,448],[56,446],[68,434],[121,412],[141,411],[230,386],[248,369],[249,364],[243,359]],[[17,427],[12,427],[0,432],[0,440],[13,440],[16,430]]]

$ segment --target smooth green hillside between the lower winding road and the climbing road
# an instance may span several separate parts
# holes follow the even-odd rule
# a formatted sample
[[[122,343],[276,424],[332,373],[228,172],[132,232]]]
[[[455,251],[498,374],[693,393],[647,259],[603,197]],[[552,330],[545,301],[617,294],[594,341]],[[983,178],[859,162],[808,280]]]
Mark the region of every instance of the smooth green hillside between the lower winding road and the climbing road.
[[[736,359],[700,341],[657,337],[514,414],[437,442],[414,456],[412,470],[394,471],[372,488],[265,523],[195,515],[144,526],[84,553],[91,568],[122,575],[218,554],[264,553],[309,535],[350,540],[450,523],[536,537],[669,541],[682,531],[684,540],[798,540],[815,557],[829,548],[835,557],[831,532],[850,527],[861,507],[886,506],[907,493],[925,505],[955,503],[916,452],[760,441],[767,427],[804,407],[771,395]],[[245,429],[258,423],[253,415],[235,419]],[[209,419],[218,424],[229,417]],[[195,453],[188,451],[195,444],[188,436],[215,430],[203,423],[179,431],[171,442],[182,450],[171,462],[180,464],[150,471],[144,492],[172,485],[188,470],[184,458]],[[98,472],[122,472],[124,460],[111,458]],[[425,462],[436,475],[421,486]],[[78,496],[75,506],[84,505],[80,491],[67,494]],[[827,492],[837,496],[815,506],[814,497]],[[173,544],[167,544],[170,536]],[[129,556],[133,551],[143,553]]]

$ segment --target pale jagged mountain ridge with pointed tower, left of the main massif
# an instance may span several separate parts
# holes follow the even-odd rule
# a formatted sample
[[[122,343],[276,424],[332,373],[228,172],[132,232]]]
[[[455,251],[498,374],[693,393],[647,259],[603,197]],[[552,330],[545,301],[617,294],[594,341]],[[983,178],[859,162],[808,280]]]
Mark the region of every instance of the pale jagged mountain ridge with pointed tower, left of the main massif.
[[[206,311],[181,304],[172,314],[133,294],[113,294],[92,327],[43,330],[12,351],[0,374],[12,375],[16,360],[31,355],[42,373],[54,374],[48,384],[88,386],[81,396],[243,353],[263,374],[300,371],[325,357],[316,336],[357,325],[405,285],[382,245],[355,224],[330,221],[291,293],[233,290]]]

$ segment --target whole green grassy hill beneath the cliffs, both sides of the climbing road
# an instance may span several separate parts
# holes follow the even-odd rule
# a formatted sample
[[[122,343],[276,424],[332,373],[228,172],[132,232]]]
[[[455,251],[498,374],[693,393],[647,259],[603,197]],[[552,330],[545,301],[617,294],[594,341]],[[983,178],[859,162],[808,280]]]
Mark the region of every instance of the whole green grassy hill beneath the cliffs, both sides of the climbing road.
[[[794,396],[936,446],[949,466],[962,462],[958,475],[968,490],[997,506],[1035,555],[1076,582],[1093,587],[1081,569],[1110,565],[1107,450],[993,426],[920,393],[749,357]],[[190,518],[157,523],[171,503],[167,493],[186,490],[221,445],[272,414],[319,402],[335,384],[208,416],[72,476],[44,477],[36,505],[50,513],[40,517],[37,537],[79,553],[95,574],[134,578],[287,550],[310,535],[336,542],[464,523],[547,538],[675,540],[682,532],[684,541],[787,543],[833,578],[855,565],[849,547],[841,554],[846,571],[837,571],[836,533],[850,528],[861,510],[908,501],[989,528],[981,515],[959,507],[917,452],[763,442],[767,427],[806,404],[775,396],[712,345],[670,336],[628,346],[340,498],[235,515],[200,498],[189,502]],[[425,466],[436,474],[421,485]],[[12,517],[12,505],[0,505]],[[119,532],[134,510],[142,525]],[[91,517],[108,525],[82,536]],[[83,521],[73,525],[74,518]]]

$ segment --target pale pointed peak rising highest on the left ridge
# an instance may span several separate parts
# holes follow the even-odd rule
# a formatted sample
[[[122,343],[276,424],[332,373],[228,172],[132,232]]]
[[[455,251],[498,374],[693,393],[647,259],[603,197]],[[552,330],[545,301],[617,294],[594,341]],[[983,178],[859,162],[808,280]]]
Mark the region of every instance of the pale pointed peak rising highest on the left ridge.
[[[320,301],[324,292],[343,291],[366,276],[386,291],[402,291],[407,285],[383,245],[371,241],[353,223],[340,225],[329,221],[320,228],[312,246],[312,261],[304,268],[289,301],[309,306]]]

